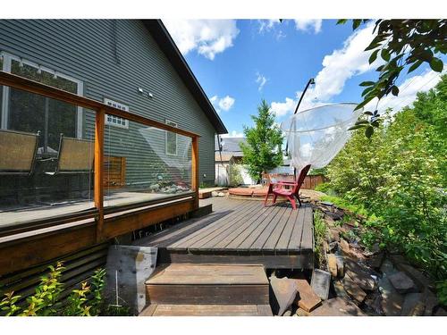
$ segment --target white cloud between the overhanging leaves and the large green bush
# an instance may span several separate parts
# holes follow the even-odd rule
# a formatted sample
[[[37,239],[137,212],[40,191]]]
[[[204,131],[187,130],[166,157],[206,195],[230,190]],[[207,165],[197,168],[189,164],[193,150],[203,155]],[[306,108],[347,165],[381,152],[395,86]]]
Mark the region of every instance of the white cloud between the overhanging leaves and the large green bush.
[[[445,67],[446,64],[444,64]],[[380,112],[384,112],[387,108],[392,108],[392,111],[398,112],[402,107],[411,106],[417,98],[417,92],[426,92],[434,88],[441,80],[441,73],[426,69],[422,74],[410,77],[404,80],[399,86],[399,95],[384,96],[377,106]],[[366,106],[366,111],[374,111],[377,100],[370,101]]]

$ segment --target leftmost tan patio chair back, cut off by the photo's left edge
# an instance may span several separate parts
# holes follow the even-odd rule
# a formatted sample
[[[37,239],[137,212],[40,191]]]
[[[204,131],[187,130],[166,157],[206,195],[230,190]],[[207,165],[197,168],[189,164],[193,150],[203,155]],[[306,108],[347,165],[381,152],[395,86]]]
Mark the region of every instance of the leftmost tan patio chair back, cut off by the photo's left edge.
[[[0,130],[0,175],[30,175],[38,152],[39,133]]]

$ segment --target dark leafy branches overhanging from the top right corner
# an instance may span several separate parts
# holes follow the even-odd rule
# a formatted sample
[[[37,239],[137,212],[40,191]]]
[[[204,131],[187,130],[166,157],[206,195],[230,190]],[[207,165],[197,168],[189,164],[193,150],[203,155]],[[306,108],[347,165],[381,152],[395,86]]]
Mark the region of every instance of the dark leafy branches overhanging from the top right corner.
[[[337,23],[346,23],[339,20]],[[370,20],[352,20],[352,28],[358,29]],[[395,85],[401,76],[401,71],[408,68],[407,73],[415,71],[422,63],[428,63],[432,70],[443,71],[442,54],[447,53],[447,20],[377,20],[374,29],[375,37],[365,51],[372,51],[369,63],[377,57],[383,59],[383,64],[376,71],[375,81],[364,81],[363,101],[357,108],[364,107],[374,98],[379,100],[389,95],[399,95]],[[367,122],[359,122],[355,128],[367,128],[365,134],[370,137],[374,128],[378,127],[379,116],[376,111],[366,112]]]

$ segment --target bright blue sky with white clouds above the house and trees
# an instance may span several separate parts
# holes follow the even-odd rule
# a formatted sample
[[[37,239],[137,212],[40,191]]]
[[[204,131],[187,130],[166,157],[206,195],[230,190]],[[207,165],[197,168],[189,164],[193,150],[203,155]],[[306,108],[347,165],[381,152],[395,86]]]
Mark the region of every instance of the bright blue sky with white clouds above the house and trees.
[[[251,126],[262,98],[278,122],[293,113],[310,78],[302,109],[335,102],[359,102],[363,80],[375,79],[363,50],[372,24],[352,31],[333,20],[196,20],[164,21],[231,136]],[[433,88],[438,74],[423,65],[402,78],[401,95],[388,97],[379,109],[409,105],[418,90]],[[369,108],[374,108],[375,103]],[[300,107],[301,109],[301,107]]]

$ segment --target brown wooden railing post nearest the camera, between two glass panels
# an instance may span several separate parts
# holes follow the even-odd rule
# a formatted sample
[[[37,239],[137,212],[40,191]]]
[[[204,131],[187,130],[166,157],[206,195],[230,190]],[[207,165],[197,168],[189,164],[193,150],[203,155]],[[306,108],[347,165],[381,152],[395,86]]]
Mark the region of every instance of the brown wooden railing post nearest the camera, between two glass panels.
[[[105,111],[97,111],[95,120],[95,183],[94,199],[97,207],[97,242],[102,240],[104,225],[104,123]]]

